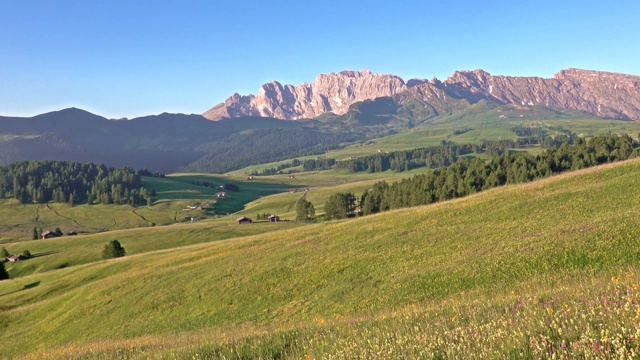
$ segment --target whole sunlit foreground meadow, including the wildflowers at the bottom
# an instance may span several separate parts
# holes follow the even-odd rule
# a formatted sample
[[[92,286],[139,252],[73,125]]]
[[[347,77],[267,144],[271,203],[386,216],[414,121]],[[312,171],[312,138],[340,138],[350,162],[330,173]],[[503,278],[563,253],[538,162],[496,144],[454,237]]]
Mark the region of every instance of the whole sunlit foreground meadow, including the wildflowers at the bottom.
[[[634,358],[639,176],[627,161],[204,243],[178,240],[197,225],[206,241],[220,220],[121,230],[127,250],[147,250],[0,282],[2,355]],[[280,224],[249,227],[262,225]],[[148,249],[160,237],[178,242]]]

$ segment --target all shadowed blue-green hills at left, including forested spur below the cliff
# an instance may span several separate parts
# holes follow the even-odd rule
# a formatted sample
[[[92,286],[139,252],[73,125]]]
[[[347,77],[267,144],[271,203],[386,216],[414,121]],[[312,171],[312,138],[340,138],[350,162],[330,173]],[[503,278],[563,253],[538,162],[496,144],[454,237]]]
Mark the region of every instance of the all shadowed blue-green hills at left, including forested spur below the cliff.
[[[108,120],[80,109],[31,118],[0,116],[0,166],[20,160],[67,160],[107,166],[225,172],[260,162],[319,154],[371,131],[243,117],[209,121],[167,114]]]

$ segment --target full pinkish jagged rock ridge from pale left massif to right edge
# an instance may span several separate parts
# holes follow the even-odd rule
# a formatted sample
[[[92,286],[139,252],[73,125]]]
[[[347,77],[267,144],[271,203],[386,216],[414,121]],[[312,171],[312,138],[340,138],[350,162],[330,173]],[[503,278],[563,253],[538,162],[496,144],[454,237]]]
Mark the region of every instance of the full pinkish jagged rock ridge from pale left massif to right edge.
[[[326,112],[344,114],[355,102],[393,96],[423,102],[446,102],[447,97],[475,103],[541,105],[578,110],[596,116],[640,121],[640,76],[604,71],[567,69],[552,79],[492,76],[483,70],[456,71],[445,81],[411,79],[369,71],[321,74],[311,84],[262,85],[258,95],[234,94],[205,112],[210,120],[245,115],[280,119],[313,118]],[[435,104],[434,104],[435,105]]]

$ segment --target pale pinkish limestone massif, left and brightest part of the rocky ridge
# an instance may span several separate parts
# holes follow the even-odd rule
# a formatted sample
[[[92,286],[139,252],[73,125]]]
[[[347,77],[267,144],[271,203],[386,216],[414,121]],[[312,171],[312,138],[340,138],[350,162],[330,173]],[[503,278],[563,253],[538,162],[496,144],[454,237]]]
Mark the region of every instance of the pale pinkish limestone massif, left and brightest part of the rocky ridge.
[[[311,84],[264,84],[258,94],[234,94],[203,114],[210,120],[243,115],[280,119],[314,118],[326,112],[344,114],[354,102],[392,96],[407,88],[395,75],[370,71],[343,71],[320,74]]]

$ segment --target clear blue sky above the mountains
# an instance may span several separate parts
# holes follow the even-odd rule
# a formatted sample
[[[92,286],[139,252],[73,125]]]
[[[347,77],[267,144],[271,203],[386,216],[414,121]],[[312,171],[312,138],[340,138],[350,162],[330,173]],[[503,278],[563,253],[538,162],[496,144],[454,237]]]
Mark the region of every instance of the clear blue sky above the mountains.
[[[640,1],[0,0],[0,115],[202,113],[368,69],[640,75]]]

